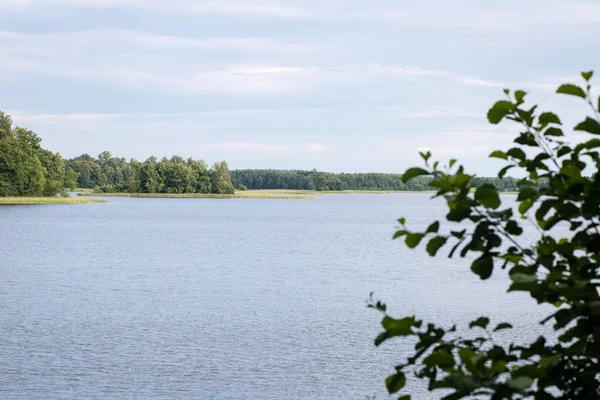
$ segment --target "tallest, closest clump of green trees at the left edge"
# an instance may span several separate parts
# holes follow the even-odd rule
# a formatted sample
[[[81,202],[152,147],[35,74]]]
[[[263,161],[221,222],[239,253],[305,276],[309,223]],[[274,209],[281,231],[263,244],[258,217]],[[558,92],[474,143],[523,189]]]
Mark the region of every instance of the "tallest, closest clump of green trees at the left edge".
[[[41,142],[35,132],[13,126],[11,117],[0,111],[0,196],[56,196],[75,188],[75,171]]]

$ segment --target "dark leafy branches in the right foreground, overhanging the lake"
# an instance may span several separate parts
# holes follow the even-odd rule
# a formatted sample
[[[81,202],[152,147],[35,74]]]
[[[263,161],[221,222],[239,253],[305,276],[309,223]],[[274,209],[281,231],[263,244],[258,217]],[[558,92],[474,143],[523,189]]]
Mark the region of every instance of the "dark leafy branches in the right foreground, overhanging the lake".
[[[517,182],[517,210],[503,206],[493,184],[473,192],[474,176],[455,160],[440,169],[430,162],[431,154],[421,154],[425,166],[407,170],[403,180],[433,176],[434,197],[443,197],[448,205],[446,220],[461,225],[442,232],[434,221],[420,232],[401,218],[394,236],[409,248],[423,243],[430,256],[451,245],[449,256],[472,256],[471,270],[481,279],[498,267],[507,269],[509,291],[527,292],[539,304],[555,308],[542,322],[551,325],[557,339],[541,336],[533,343],[503,346],[493,341],[494,332],[511,329],[509,323],[492,325],[488,317],[480,317],[469,325],[475,332],[468,333],[415,316],[396,319],[385,304],[372,301],[370,307],[385,314],[376,345],[396,337],[416,341],[414,354],[387,378],[390,393],[402,390],[412,372],[428,381],[430,391],[449,392],[447,400],[600,398],[600,99],[592,99],[592,72],[582,76],[583,87],[565,84],[557,91],[591,107],[591,116],[574,127],[592,135],[581,143],[568,144],[558,115],[526,105],[521,90],[505,90],[507,98],[488,113],[492,124],[509,120],[522,128],[514,147],[490,155],[507,162],[498,178],[513,168],[525,174]],[[524,223],[539,232],[531,246],[520,239]],[[558,225],[569,228],[569,237],[560,237]],[[481,331],[486,334],[476,335]]]

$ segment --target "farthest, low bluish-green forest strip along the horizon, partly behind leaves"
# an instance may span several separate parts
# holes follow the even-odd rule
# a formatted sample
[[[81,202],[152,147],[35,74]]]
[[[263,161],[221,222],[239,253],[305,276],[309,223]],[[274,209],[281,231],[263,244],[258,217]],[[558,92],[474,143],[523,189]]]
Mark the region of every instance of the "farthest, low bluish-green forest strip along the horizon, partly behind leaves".
[[[261,170],[243,169],[231,171],[231,181],[237,188],[248,189],[294,189],[294,190],[389,190],[389,191],[421,191],[432,190],[430,186],[434,178],[420,176],[407,183],[402,181],[402,174],[384,173],[328,173],[296,170]],[[492,184],[500,191],[518,191],[518,180],[505,177],[473,177],[472,183],[479,187]]]

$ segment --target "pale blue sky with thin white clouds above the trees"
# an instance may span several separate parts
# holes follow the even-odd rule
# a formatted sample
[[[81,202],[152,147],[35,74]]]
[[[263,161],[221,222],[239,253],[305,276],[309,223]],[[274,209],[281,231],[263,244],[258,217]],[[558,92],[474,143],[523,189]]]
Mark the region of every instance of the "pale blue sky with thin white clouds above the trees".
[[[0,0],[0,110],[67,158],[492,175],[502,89],[575,122],[598,37],[600,1]]]

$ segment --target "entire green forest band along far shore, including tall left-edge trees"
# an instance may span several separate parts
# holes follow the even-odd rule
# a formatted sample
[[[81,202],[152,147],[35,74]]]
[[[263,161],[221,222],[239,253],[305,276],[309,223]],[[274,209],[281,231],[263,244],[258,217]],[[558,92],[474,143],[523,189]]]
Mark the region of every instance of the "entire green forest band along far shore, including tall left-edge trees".
[[[41,147],[42,139],[31,130],[13,126],[0,112],[0,196],[56,196],[66,189],[91,188],[97,192],[215,193],[236,189],[292,190],[389,190],[432,189],[430,177],[402,183],[400,174],[328,173],[316,170],[229,171],[225,161],[209,167],[202,160],[179,156],[140,162],[114,157],[104,151],[98,157],[83,154],[63,160],[59,153]],[[517,191],[517,179],[476,177],[479,186],[491,183],[502,191]]]

